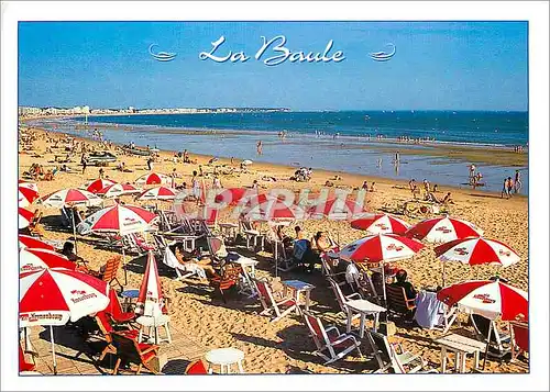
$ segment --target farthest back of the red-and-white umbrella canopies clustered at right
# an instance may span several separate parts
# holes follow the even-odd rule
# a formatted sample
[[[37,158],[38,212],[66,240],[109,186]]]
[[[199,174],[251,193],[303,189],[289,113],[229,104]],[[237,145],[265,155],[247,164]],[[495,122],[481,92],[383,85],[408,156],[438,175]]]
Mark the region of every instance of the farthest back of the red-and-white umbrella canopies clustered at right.
[[[417,223],[405,235],[429,243],[447,243],[459,238],[479,237],[483,235],[483,231],[473,223],[455,217],[441,216]]]

